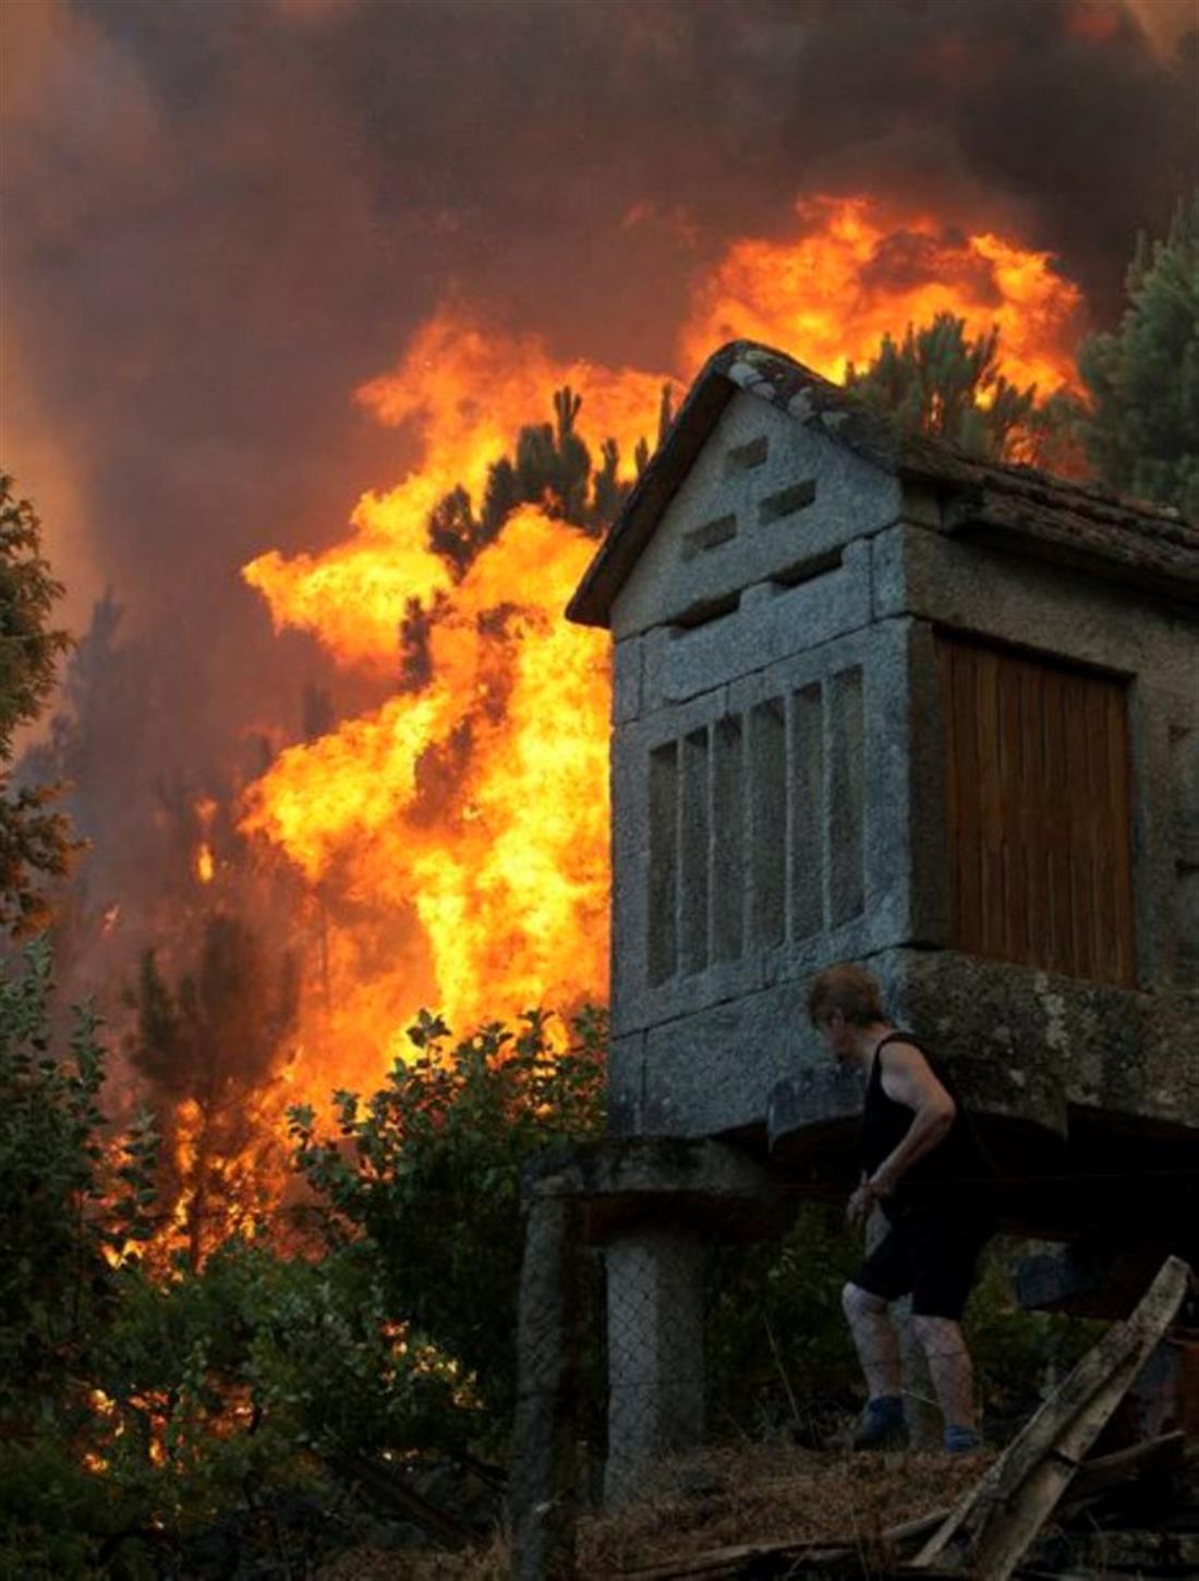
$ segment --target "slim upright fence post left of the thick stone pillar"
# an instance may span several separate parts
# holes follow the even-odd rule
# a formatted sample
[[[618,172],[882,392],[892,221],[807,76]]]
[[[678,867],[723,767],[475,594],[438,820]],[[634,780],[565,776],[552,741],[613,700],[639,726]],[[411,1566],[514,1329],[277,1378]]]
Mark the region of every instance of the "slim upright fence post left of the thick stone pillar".
[[[580,1203],[562,1175],[526,1186],[512,1442],[513,1581],[575,1575]]]

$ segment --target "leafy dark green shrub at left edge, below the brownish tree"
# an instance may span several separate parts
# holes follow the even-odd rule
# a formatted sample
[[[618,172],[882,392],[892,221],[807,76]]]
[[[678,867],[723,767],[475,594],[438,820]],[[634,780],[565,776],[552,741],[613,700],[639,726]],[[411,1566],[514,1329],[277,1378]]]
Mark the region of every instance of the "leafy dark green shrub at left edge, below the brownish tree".
[[[117,1257],[150,1233],[156,1140],[139,1119],[104,1143],[104,1051],[76,1012],[70,1055],[51,1047],[51,960],[30,945],[0,979],[0,1417],[9,1431],[60,1410],[115,1300]],[[0,1434],[3,1436],[3,1434]]]

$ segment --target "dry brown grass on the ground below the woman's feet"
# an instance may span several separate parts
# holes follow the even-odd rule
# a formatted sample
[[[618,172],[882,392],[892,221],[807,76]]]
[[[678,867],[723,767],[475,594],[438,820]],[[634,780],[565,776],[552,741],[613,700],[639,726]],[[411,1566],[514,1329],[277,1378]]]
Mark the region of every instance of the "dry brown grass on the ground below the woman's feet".
[[[847,1455],[796,1448],[706,1450],[663,1464],[648,1497],[578,1524],[580,1576],[706,1553],[735,1543],[858,1541],[954,1504],[986,1456]],[[458,1554],[357,1548],[321,1581],[502,1581],[502,1540]]]

